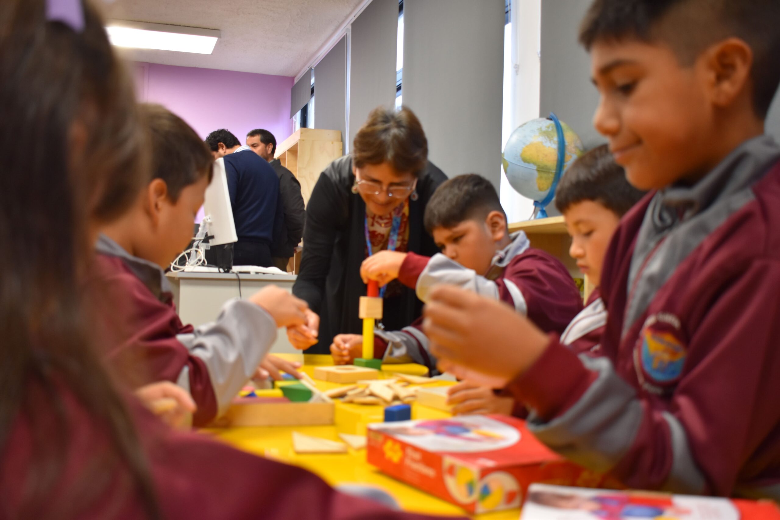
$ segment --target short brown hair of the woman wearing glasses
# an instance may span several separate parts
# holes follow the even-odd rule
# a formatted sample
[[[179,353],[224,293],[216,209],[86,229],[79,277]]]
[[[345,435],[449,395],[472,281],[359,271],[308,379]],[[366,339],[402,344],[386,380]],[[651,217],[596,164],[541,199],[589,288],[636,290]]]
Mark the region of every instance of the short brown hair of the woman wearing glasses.
[[[396,172],[419,176],[427,164],[428,140],[417,115],[406,107],[374,108],[357,131],[352,160],[357,168],[387,162]]]

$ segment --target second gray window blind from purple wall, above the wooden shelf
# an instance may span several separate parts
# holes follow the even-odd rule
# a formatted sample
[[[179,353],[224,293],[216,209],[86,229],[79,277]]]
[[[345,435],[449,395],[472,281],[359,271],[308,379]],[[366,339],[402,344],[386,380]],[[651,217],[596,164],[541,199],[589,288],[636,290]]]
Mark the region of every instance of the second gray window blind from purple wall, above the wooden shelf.
[[[314,67],[314,127],[346,139],[346,37]]]

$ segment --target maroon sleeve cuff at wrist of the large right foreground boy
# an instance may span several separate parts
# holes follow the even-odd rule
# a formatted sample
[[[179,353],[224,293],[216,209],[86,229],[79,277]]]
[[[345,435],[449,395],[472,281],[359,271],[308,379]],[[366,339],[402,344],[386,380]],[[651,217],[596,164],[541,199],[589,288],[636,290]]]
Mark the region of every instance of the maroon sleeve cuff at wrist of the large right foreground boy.
[[[507,387],[518,401],[534,409],[544,420],[566,412],[579,401],[597,374],[550,334],[551,341],[539,359]]]

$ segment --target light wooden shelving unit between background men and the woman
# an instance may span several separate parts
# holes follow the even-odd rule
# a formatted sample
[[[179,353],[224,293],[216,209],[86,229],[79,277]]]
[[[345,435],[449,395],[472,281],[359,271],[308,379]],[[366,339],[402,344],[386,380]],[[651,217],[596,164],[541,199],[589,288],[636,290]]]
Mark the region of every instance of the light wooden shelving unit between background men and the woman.
[[[302,128],[276,147],[275,158],[296,176],[303,203],[308,204],[320,174],[342,156],[343,149],[339,130]]]

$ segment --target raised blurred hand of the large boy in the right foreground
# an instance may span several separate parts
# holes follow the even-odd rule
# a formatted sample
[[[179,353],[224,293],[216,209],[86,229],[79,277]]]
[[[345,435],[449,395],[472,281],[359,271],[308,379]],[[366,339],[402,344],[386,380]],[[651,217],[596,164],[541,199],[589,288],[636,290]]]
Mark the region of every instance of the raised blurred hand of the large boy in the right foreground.
[[[431,339],[431,352],[442,370],[459,379],[505,387],[549,343],[544,332],[505,303],[452,285],[434,286],[429,298],[423,330]]]

